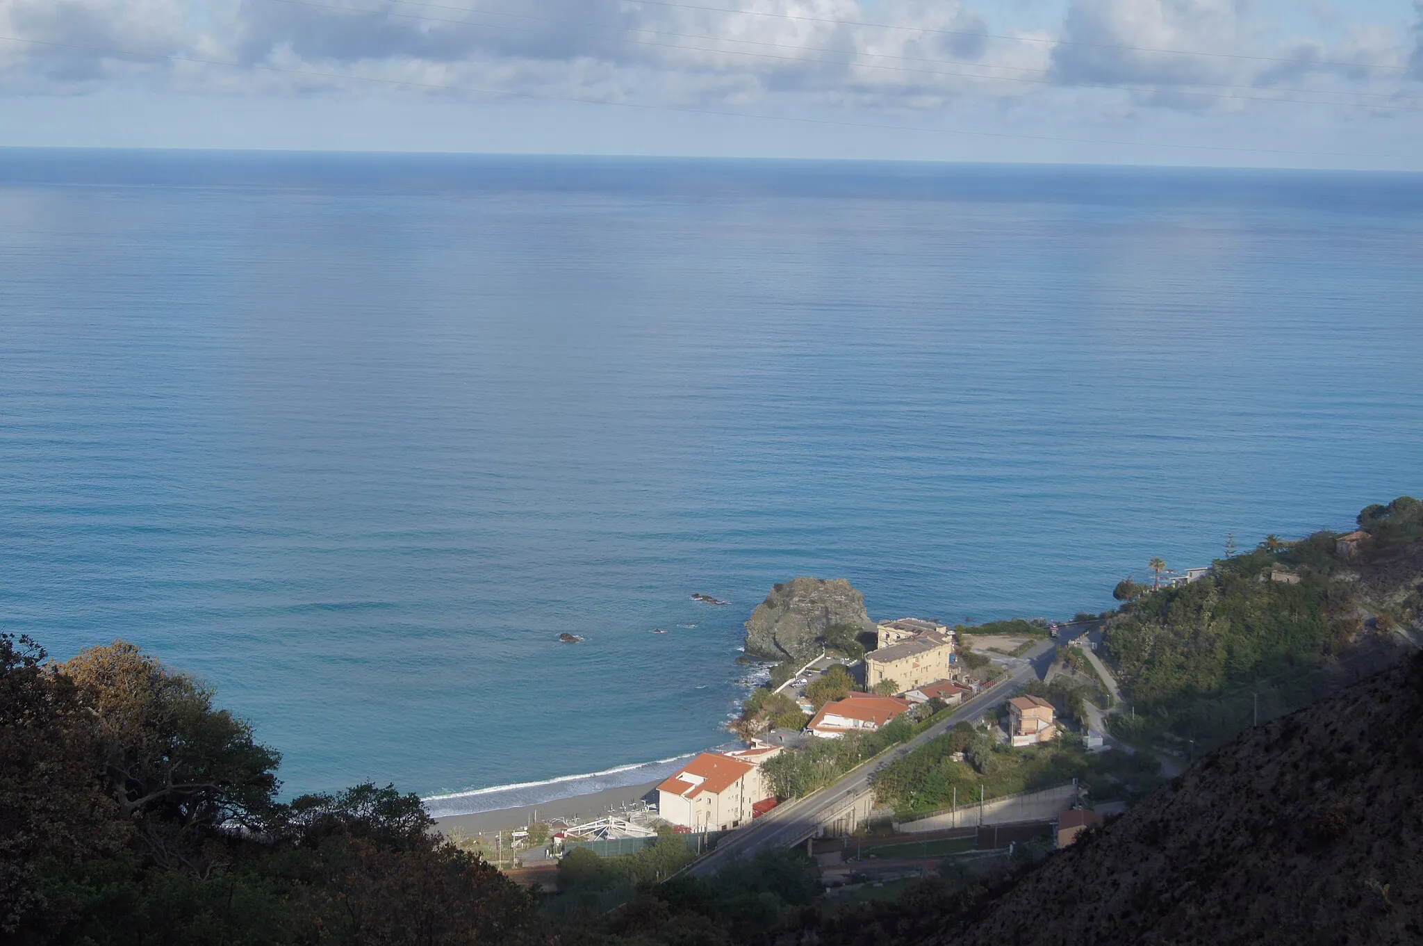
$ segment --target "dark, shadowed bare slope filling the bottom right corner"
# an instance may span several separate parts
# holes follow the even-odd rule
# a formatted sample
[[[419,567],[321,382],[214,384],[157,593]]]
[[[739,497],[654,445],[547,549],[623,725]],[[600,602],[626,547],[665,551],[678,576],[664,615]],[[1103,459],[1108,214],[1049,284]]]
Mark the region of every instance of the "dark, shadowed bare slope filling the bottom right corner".
[[[921,942],[1417,943],[1420,868],[1412,657],[1244,734]]]

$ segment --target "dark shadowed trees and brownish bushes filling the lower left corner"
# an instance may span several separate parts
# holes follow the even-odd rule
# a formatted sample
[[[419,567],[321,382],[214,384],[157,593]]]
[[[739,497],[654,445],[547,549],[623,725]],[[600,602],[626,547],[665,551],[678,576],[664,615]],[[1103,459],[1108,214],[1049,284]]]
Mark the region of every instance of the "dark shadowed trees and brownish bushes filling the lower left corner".
[[[279,757],[122,642],[47,664],[0,634],[0,939],[518,943],[534,900],[414,795],[276,801]]]

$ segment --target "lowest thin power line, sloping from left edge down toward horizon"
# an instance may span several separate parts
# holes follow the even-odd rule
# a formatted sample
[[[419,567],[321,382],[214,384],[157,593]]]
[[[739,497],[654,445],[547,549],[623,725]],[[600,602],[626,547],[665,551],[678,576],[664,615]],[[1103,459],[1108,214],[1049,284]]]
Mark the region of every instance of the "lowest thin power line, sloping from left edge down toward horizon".
[[[552,95],[545,92],[515,92],[498,88],[477,88],[472,85],[450,85],[438,83],[417,83],[413,80],[403,78],[381,78],[376,75],[353,75],[344,73],[323,73],[320,70],[296,70],[296,68],[282,68],[277,65],[266,65],[262,63],[228,63],[223,60],[208,60],[194,55],[166,55],[158,53],[134,53],[131,50],[117,50],[111,47],[97,47],[97,46],[78,46],[74,43],[54,43],[51,40],[28,40],[16,36],[0,36],[0,41],[4,43],[26,43],[30,46],[43,46],[57,50],[75,50],[80,53],[97,53],[100,55],[114,55],[122,58],[132,58],[149,63],[192,63],[198,65],[221,65],[225,68],[238,70],[253,70],[262,73],[276,73],[285,75],[305,75],[310,78],[332,78],[351,83],[373,83],[380,85],[397,85],[406,88],[427,88],[444,92],[465,92],[472,95],[502,95],[507,98],[531,98],[538,101],[554,101],[554,102],[576,102],[581,105],[606,105],[613,108],[632,108],[639,111],[663,111],[663,112],[682,112],[689,115],[716,115],[721,118],[754,118],[760,121],[784,121],[795,122],[800,125],[825,125],[835,128],[868,128],[875,131],[915,131],[935,135],[959,135],[969,138],[1002,138],[1010,141],[1046,141],[1054,144],[1081,144],[1081,145],[1117,145],[1123,148],[1170,148],[1177,151],[1210,151],[1210,152],[1228,152],[1228,154],[1268,154],[1268,155],[1294,155],[1302,158],[1382,158],[1382,159],[1397,159],[1396,155],[1376,155],[1376,154],[1360,154],[1349,151],[1298,151],[1286,148],[1235,148],[1231,145],[1183,145],[1175,142],[1161,142],[1161,141],[1118,141],[1113,138],[1072,138],[1066,135],[1023,135],[1006,131],[968,131],[959,128],[925,128],[924,125],[888,125],[878,122],[858,122],[858,121],[844,121],[838,118],[804,118],[800,115],[767,115],[760,112],[737,112],[737,111],[721,111],[714,108],[690,108],[684,105],[649,105],[646,102],[618,102],[602,98],[583,98],[578,95]]]

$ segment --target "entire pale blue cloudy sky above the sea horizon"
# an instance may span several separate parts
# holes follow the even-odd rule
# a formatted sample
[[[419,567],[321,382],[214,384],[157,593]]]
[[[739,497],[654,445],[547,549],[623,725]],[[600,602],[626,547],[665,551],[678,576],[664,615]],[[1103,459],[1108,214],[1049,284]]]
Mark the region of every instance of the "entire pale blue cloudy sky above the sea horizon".
[[[1423,169],[1423,0],[0,0],[0,145]]]

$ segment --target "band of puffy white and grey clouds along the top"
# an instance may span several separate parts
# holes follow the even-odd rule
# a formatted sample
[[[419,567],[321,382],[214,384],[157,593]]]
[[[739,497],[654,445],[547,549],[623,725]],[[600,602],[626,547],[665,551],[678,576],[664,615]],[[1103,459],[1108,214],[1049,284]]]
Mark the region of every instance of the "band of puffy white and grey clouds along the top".
[[[1387,24],[1345,23],[1328,41],[1278,36],[1247,0],[1070,0],[1056,31],[1019,30],[995,7],[962,0],[709,6],[721,3],[741,11],[636,0],[0,0],[0,31],[38,41],[0,43],[0,83],[55,94],[124,84],[347,94],[383,80],[425,95],[919,111],[1043,101],[1103,114],[1259,107],[1225,98],[1234,88],[1258,98],[1301,83],[1379,95],[1397,87],[1397,73],[1329,61],[1400,65],[1412,53],[1423,70],[1417,28],[1412,50]]]

